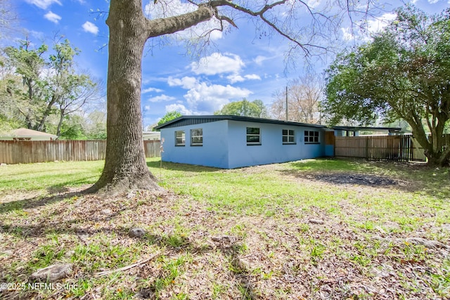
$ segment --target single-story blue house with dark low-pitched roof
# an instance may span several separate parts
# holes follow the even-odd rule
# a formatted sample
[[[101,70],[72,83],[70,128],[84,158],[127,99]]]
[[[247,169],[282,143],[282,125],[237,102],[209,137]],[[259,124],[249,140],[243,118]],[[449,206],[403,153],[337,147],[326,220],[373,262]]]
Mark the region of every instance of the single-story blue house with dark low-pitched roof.
[[[333,156],[318,124],[231,115],[182,116],[160,129],[162,160],[221,169]],[[328,133],[327,133],[328,132]]]

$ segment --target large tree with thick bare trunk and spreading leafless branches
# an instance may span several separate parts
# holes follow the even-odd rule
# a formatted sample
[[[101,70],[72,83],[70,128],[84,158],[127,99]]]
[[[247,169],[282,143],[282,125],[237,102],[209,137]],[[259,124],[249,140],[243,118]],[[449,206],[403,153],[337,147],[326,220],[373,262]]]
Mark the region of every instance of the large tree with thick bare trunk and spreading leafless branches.
[[[143,13],[141,0],[111,0],[106,24],[109,27],[108,44],[108,143],[105,167],[101,178],[89,191],[105,190],[118,193],[127,189],[160,190],[150,174],[143,152],[141,116],[141,63],[146,41],[166,34],[174,34],[202,22],[215,20],[217,27],[200,34],[205,44],[214,30],[237,27],[240,17],[252,18],[262,36],[281,34],[290,43],[289,58],[294,53],[311,55],[325,51],[321,41],[334,38],[339,32],[340,20],[356,14],[366,15],[372,0],[333,1],[311,8],[306,1],[187,1],[188,11],[179,13],[171,0],[150,3],[159,7],[160,14],[148,19]],[[338,6],[335,6],[338,4]],[[334,10],[331,9],[333,5]],[[147,11],[150,11],[150,8]],[[174,13],[178,11],[178,13]],[[335,13],[333,13],[335,11]],[[305,17],[305,13],[309,16]],[[311,22],[308,24],[308,20]],[[364,22],[363,22],[364,23]]]

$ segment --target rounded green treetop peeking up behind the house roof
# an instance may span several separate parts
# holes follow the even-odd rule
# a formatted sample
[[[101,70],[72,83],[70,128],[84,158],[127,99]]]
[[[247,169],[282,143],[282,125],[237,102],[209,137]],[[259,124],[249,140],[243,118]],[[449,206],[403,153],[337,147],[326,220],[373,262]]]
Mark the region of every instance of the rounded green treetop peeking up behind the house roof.
[[[266,105],[262,100],[249,102],[243,98],[242,101],[228,103],[221,110],[214,112],[214,115],[233,115],[242,117],[267,117]]]

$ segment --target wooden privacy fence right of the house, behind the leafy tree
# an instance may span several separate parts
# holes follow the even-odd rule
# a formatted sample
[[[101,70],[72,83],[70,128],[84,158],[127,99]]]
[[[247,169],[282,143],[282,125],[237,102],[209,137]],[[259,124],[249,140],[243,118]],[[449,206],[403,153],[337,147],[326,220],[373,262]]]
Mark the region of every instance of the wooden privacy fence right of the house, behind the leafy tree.
[[[449,141],[449,138],[446,138]],[[335,156],[397,162],[426,161],[423,148],[411,134],[404,136],[336,136]]]

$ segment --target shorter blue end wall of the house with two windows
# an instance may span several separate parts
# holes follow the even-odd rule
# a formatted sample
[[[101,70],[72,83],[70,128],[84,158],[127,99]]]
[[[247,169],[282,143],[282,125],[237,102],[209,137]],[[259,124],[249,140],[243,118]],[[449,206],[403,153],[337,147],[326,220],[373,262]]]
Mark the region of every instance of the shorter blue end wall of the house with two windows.
[[[164,138],[163,162],[179,162],[183,164],[200,164],[208,167],[228,169],[228,145],[226,120],[205,124],[179,126],[161,129]],[[191,129],[203,129],[203,146],[191,146]],[[184,130],[186,145],[175,146],[175,131]]]

